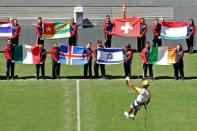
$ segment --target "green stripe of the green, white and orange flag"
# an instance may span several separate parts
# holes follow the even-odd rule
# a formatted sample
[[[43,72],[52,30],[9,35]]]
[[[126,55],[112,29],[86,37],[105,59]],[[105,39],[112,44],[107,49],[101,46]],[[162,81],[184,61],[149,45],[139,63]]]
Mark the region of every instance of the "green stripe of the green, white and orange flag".
[[[148,63],[150,63],[150,64],[156,63],[157,56],[158,56],[158,47],[152,47],[150,50],[150,56],[148,58]]]

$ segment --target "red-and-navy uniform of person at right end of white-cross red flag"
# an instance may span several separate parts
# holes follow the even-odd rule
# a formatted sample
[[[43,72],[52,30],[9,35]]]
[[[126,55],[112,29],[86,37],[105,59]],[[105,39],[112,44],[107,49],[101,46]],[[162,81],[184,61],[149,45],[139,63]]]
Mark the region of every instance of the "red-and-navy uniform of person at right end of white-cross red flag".
[[[147,24],[141,23],[140,24],[140,37],[137,37],[137,47],[138,47],[138,52],[141,52],[142,49],[144,49],[145,42],[146,42],[146,33],[148,31],[148,26]]]

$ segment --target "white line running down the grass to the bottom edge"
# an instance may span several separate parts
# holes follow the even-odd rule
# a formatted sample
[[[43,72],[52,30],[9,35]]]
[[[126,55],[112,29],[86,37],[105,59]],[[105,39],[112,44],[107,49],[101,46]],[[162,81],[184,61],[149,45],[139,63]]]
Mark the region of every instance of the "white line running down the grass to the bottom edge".
[[[76,80],[76,91],[77,91],[77,131],[80,131],[80,90],[79,80]]]

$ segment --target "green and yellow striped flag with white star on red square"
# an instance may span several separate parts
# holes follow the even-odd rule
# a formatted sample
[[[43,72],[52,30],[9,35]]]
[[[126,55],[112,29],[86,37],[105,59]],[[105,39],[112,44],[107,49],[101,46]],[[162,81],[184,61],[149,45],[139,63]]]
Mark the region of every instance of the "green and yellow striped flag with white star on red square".
[[[70,37],[70,24],[44,23],[43,38],[59,39]]]

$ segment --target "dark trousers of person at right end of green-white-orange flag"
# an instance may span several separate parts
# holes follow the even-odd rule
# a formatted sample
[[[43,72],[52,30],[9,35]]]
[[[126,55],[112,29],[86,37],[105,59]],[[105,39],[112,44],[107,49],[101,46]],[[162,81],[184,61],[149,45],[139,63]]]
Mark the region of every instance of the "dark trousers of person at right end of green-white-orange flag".
[[[183,64],[183,61],[180,61],[178,63],[175,63],[173,65],[174,67],[174,78],[175,79],[178,79],[179,77],[179,72],[180,72],[180,76],[181,76],[181,79],[184,79],[184,64]]]

